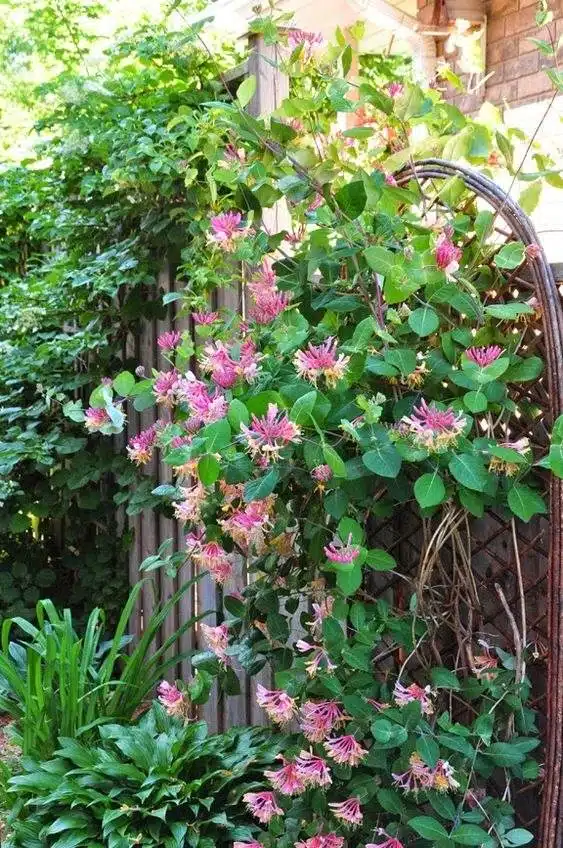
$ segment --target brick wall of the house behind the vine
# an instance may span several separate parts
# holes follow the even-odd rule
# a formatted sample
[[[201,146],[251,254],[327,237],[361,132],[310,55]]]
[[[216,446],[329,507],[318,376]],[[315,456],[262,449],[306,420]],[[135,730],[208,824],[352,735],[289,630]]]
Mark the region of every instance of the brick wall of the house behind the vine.
[[[486,0],[487,80],[486,98],[493,103],[532,103],[545,99],[553,90],[542,70],[549,59],[541,56],[528,39],[548,40],[547,31],[535,24],[536,0]],[[563,34],[563,2],[551,4],[555,22],[551,29]]]

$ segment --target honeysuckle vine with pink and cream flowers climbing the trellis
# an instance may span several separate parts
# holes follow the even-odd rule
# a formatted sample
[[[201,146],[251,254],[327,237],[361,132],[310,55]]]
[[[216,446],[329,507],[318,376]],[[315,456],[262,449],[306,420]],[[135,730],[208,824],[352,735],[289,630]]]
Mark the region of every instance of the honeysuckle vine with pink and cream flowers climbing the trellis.
[[[163,508],[223,590],[194,666],[235,692],[237,663],[268,664],[257,703],[295,731],[245,793],[256,827],[234,848],[524,845],[511,802],[540,773],[533,646],[524,616],[514,645],[486,632],[470,533],[493,506],[513,521],[544,513],[543,475],[562,470],[561,424],[543,455],[536,410],[514,391],[543,379],[541,309],[515,285],[540,248],[504,242],[456,180],[393,176],[454,143],[514,174],[513,137],[410,80],[348,81],[340,34],[321,47],[270,19],[254,27],[279,40],[300,95],[253,118],[248,78],[210,105],[220,143],[190,172],[208,202],[180,269],[193,338],[161,336],[166,365],[100,386],[85,426],[115,433],[126,399],[156,406],[129,456],[170,465]],[[346,129],[330,127],[337,114]],[[262,210],[276,203],[286,223],[272,231]],[[211,308],[222,289],[237,310],[215,295]],[[380,532],[407,503],[426,540],[415,577]],[[391,572],[399,589],[382,582]],[[180,684],[159,691],[176,715],[186,698]]]

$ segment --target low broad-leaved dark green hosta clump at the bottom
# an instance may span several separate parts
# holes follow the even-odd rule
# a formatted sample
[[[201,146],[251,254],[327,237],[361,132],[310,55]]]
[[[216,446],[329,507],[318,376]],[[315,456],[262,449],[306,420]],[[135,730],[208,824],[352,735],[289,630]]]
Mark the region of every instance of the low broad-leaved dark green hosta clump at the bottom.
[[[6,848],[215,848],[248,839],[243,794],[283,737],[261,728],[207,735],[155,703],[137,726],[104,725],[89,747],[61,739],[54,759],[24,761]]]

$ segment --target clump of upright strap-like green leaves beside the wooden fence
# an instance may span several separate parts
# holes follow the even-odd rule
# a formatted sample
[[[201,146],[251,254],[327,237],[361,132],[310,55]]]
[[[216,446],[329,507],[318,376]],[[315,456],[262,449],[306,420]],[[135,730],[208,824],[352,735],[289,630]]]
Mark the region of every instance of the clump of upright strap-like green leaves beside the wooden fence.
[[[164,660],[175,640],[198,620],[185,621],[149,655],[170,609],[197,579],[154,612],[129,653],[126,628],[142,583],[131,591],[110,642],[103,641],[105,616],[99,608],[90,614],[83,636],[74,630],[71,611],[59,615],[48,600],[37,604],[38,627],[21,618],[4,622],[0,711],[15,720],[15,739],[24,754],[50,757],[60,736],[87,736],[98,724],[133,716],[166,668],[178,662],[177,656]],[[11,642],[14,627],[30,638]]]

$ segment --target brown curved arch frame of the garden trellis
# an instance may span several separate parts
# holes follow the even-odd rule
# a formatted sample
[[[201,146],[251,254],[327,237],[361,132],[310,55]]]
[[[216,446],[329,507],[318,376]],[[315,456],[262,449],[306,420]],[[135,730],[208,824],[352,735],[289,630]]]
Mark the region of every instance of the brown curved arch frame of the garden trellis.
[[[423,159],[395,174],[399,185],[458,177],[483,198],[525,245],[539,244],[533,224],[492,180],[442,159]],[[552,419],[563,412],[563,310],[543,250],[529,263],[531,282],[542,308],[546,370]],[[548,554],[547,734],[540,836],[541,848],[563,848],[563,480],[551,477]]]

